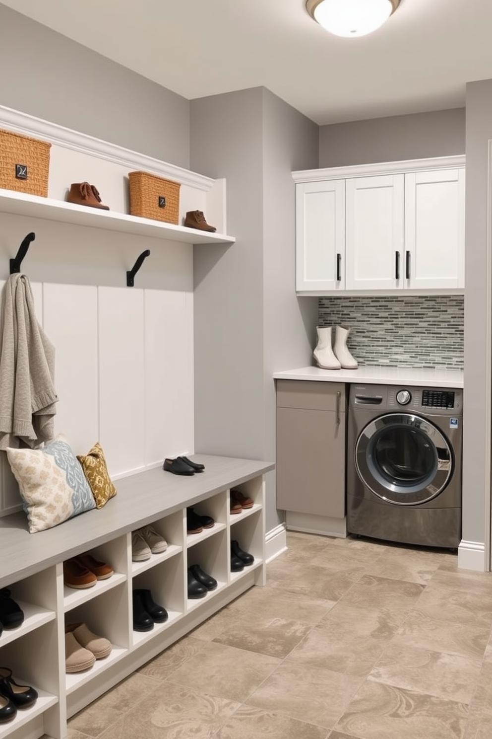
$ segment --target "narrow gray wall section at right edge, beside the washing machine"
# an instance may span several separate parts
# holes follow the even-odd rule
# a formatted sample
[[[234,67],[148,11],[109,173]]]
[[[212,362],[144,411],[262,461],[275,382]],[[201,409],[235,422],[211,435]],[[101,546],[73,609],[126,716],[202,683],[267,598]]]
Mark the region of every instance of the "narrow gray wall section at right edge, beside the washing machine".
[[[463,440],[463,539],[484,541],[485,486],[490,469],[490,390],[488,336],[487,147],[492,139],[492,80],[466,86],[466,194],[465,194],[465,410]],[[487,524],[486,524],[487,525]]]

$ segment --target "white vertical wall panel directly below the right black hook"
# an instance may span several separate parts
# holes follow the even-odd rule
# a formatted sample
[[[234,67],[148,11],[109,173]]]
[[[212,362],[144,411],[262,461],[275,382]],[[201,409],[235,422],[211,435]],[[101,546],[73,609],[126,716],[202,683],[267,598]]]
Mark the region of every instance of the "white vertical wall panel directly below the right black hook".
[[[145,466],[144,293],[99,287],[100,443],[111,475]]]

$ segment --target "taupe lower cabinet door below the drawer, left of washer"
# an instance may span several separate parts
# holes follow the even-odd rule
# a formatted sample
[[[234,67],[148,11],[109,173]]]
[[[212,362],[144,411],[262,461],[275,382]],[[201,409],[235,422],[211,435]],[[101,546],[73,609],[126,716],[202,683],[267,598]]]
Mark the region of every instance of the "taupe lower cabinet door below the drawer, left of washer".
[[[277,408],[277,508],[344,517],[344,413]]]

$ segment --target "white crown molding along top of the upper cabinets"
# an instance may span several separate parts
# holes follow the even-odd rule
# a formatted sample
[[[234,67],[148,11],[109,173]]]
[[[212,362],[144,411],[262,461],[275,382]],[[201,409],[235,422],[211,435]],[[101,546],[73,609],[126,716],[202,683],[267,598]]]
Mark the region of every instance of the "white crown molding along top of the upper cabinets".
[[[465,154],[455,157],[410,159],[401,162],[378,162],[375,164],[329,167],[325,169],[303,169],[292,172],[297,183],[319,182],[320,180],[345,180],[347,177],[367,177],[375,174],[395,174],[427,169],[452,169],[465,166]]]

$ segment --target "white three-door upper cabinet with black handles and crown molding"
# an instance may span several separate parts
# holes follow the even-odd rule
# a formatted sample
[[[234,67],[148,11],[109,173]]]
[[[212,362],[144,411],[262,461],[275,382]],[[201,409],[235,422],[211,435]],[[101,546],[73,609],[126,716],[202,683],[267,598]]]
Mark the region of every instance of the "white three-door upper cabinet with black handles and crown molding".
[[[465,157],[293,173],[297,292],[461,292]]]

